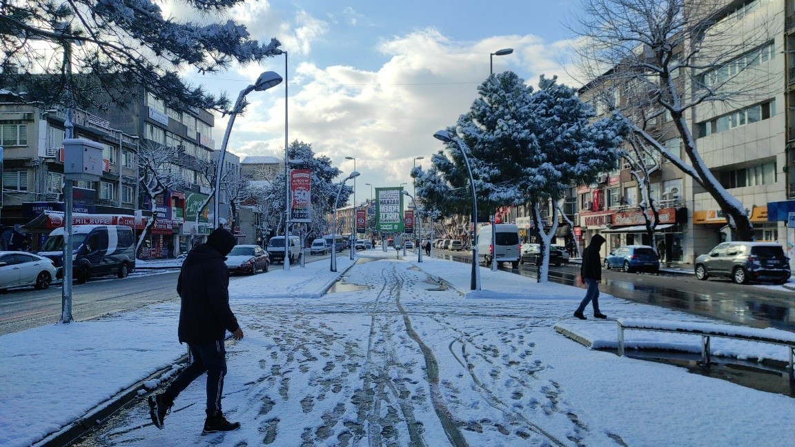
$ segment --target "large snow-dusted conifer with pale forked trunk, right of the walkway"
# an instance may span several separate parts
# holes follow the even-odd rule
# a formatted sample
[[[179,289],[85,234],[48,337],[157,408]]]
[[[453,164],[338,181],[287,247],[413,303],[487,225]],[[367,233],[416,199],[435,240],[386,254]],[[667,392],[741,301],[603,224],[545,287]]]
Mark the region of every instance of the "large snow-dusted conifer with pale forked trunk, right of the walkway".
[[[490,76],[479,94],[449,131],[471,148],[479,196],[498,206],[529,204],[544,240],[539,281],[546,282],[549,244],[557,229],[558,207],[551,205],[572,185],[591,183],[615,167],[625,127],[615,119],[593,121],[593,109],[556,78],[541,76],[533,91],[515,73],[504,72]],[[448,143],[448,149],[453,146]],[[436,166],[437,157],[432,161]],[[541,207],[551,208],[549,232]]]

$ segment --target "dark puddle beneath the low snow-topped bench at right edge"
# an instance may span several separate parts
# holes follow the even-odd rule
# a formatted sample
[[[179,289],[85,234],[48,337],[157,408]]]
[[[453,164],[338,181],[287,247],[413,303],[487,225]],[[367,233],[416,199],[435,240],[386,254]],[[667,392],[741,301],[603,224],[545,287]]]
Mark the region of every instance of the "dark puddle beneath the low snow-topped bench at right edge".
[[[795,398],[795,384],[789,383],[789,376],[783,367],[770,367],[765,364],[715,356],[712,357],[712,364],[704,367],[700,364],[700,354],[683,352],[627,351],[626,356],[684,367],[693,374],[727,380],[754,390]]]

